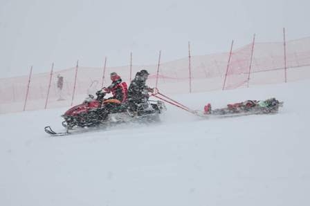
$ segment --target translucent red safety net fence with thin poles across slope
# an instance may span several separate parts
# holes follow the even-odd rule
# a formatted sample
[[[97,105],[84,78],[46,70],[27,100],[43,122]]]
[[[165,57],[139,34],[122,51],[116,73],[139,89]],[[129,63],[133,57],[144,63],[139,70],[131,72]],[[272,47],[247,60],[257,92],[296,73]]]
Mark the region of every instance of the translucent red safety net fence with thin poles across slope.
[[[146,69],[147,85],[167,94],[242,88],[310,77],[310,37],[284,42],[255,42],[228,53],[197,55],[153,65],[72,68],[0,79],[0,113],[71,106],[102,86],[109,74],[127,82]]]

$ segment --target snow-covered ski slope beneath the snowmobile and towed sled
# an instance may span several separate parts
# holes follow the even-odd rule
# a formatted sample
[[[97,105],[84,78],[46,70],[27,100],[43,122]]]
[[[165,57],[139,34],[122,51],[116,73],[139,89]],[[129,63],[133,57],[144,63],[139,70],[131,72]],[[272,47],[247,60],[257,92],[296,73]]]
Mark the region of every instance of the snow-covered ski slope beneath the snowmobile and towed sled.
[[[0,115],[0,205],[310,205],[309,86],[173,96],[200,110],[276,97],[277,115],[206,120],[167,105],[159,124],[61,138],[44,127],[62,129],[66,108]]]

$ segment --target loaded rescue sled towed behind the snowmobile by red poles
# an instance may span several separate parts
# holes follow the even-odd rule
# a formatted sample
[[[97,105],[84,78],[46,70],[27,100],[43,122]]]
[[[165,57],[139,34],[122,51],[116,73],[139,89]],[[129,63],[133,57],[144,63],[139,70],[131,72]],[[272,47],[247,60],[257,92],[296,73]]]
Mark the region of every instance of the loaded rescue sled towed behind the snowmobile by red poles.
[[[222,109],[212,109],[211,104],[204,107],[205,116],[237,116],[251,114],[273,114],[277,113],[279,107],[283,106],[283,102],[270,98],[268,100],[246,100],[234,104],[227,104]]]

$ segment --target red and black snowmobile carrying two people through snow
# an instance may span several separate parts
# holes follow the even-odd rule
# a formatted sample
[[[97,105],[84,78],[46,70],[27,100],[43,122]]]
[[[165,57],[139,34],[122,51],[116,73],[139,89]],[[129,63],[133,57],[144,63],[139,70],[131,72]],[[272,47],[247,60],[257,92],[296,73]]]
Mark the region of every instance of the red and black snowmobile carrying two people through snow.
[[[158,122],[159,115],[166,110],[164,102],[145,101],[136,106],[136,111],[131,111],[127,103],[122,103],[116,99],[104,99],[107,93],[98,91],[93,95],[86,97],[82,104],[73,106],[66,111],[62,118],[62,126],[66,128],[65,132],[57,133],[50,126],[44,128],[50,135],[66,135],[73,129],[89,128],[98,126],[110,126],[121,122]]]

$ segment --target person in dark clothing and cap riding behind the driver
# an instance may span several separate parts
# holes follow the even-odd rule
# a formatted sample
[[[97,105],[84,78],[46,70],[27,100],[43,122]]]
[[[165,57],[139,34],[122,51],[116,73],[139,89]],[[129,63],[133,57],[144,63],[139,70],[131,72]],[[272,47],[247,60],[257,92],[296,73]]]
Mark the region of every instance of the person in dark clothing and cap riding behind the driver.
[[[149,99],[148,92],[153,92],[153,88],[146,86],[146,80],[149,73],[143,69],[136,73],[136,77],[131,81],[128,89],[128,106],[129,110],[137,111],[140,104],[146,103]]]

